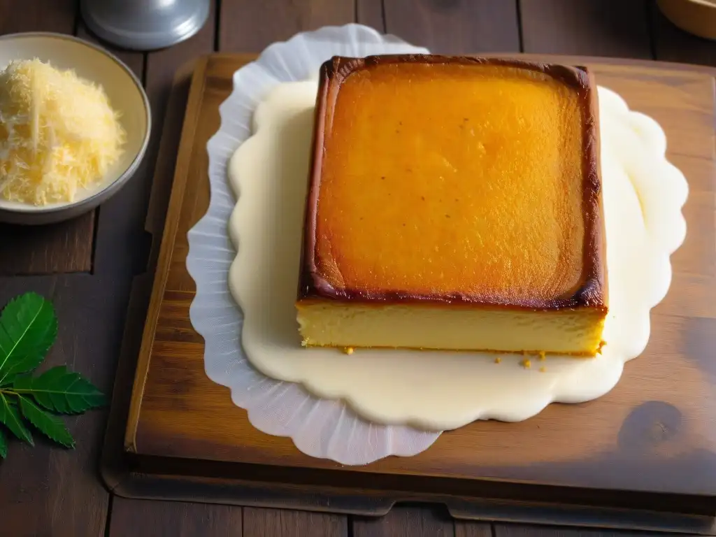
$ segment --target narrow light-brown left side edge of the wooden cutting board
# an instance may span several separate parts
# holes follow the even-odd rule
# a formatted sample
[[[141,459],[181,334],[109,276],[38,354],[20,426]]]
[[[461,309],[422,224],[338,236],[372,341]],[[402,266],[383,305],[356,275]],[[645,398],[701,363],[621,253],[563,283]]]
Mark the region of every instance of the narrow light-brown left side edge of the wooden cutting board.
[[[194,143],[195,125],[199,119],[199,112],[201,109],[200,105],[203,100],[203,88],[206,82],[204,75],[207,64],[208,57],[202,57],[197,61],[189,89],[189,97],[177,151],[174,180],[169,198],[164,232],[160,243],[154,283],[151,290],[149,307],[147,309],[147,317],[145,319],[145,326],[142,332],[142,344],[137,360],[135,380],[132,384],[132,399],[130,402],[129,416],[127,417],[127,428],[125,431],[124,441],[125,449],[131,452],[136,450],[136,433],[142,404],[142,395],[144,394],[144,386],[154,342],[154,333],[159,318],[159,308],[169,274],[174,237],[177,233],[179,225],[179,217],[184,198],[184,189],[188,179],[188,163],[191,158],[191,149]],[[155,173],[157,173],[157,170],[155,170]]]

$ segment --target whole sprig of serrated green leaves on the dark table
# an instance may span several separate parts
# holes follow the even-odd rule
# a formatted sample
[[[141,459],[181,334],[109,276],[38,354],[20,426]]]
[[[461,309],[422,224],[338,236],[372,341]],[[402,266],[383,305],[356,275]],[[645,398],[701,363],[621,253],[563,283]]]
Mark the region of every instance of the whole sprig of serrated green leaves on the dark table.
[[[106,404],[105,395],[79,373],[52,367],[37,377],[57,338],[57,316],[49,301],[26,293],[9,301],[0,314],[0,424],[34,445],[26,422],[45,436],[74,448],[58,414],[79,414]],[[0,427],[0,458],[7,456],[7,435]]]

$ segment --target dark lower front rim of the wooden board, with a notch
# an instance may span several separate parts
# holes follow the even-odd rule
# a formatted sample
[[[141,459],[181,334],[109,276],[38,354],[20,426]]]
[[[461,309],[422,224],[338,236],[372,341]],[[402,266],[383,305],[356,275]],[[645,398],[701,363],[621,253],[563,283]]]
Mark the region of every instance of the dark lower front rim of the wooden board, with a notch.
[[[225,482],[145,473],[130,474],[112,492],[130,499],[218,503],[369,517],[384,516],[399,503],[419,502],[445,505],[453,519],[462,521],[716,535],[716,523],[712,516],[549,501],[468,499],[435,493],[393,494],[381,490],[356,493],[320,486],[296,488],[284,483]]]

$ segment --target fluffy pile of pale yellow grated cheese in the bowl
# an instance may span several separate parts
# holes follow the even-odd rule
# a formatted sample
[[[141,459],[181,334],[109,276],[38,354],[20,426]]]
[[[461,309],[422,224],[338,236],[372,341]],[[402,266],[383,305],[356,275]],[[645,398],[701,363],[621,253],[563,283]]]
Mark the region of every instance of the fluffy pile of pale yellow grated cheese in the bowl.
[[[0,72],[0,195],[74,200],[120,158],[126,134],[102,87],[39,59]]]

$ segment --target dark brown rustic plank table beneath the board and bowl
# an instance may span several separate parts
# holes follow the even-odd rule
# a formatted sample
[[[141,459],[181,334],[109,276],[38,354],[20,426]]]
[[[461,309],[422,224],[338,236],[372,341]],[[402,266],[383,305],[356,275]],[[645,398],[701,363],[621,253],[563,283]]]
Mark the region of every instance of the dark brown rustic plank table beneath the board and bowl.
[[[0,0],[0,34],[46,31],[93,39],[76,0]],[[716,65],[716,44],[675,29],[649,0],[216,0],[188,42],[147,54],[115,51],[142,79],[153,138],[135,178],[86,216],[51,228],[0,226],[0,303],[25,291],[54,301],[61,328],[50,364],[69,364],[109,393],[127,320],[130,284],[152,270],[144,231],[175,71],[213,51],[258,52],[296,32],[358,21],[434,52],[532,52]],[[168,130],[172,130],[169,127]],[[166,153],[166,152],[165,152]],[[171,152],[170,152],[171,153]],[[158,173],[155,174],[155,165]],[[166,169],[164,169],[166,168]],[[162,192],[162,189],[158,189]],[[167,199],[152,200],[161,220]],[[157,237],[158,238],[158,237]],[[131,315],[143,316],[146,304]],[[398,506],[379,519],[199,503],[127,500],[102,485],[107,412],[68,420],[77,448],[10,447],[0,463],[0,535],[16,536],[570,536],[599,531],[454,522],[440,507]]]

